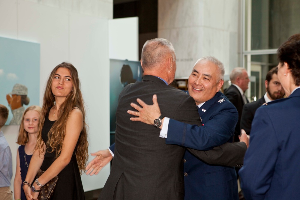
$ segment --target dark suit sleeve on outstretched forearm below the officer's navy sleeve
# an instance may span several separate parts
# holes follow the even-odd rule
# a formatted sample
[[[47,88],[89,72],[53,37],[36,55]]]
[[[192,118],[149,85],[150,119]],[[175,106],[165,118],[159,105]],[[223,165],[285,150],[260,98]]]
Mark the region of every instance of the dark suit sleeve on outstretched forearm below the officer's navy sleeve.
[[[242,167],[247,145],[244,142],[227,142],[208,151],[188,149],[194,156],[212,165]]]

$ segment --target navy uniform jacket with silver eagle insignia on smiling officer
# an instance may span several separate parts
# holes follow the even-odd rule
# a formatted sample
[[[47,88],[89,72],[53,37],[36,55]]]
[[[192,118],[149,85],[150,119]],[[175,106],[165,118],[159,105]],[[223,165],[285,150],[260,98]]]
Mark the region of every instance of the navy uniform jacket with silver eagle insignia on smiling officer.
[[[166,143],[207,150],[232,142],[238,112],[221,92],[206,101],[198,112],[204,126],[170,119]],[[238,199],[234,167],[209,165],[186,151],[183,175],[185,200]]]

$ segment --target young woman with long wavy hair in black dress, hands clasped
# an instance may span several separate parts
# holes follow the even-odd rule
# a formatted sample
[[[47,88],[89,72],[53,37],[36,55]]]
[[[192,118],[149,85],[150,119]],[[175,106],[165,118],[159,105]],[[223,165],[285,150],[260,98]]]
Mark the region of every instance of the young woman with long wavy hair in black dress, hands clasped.
[[[88,159],[85,109],[76,68],[56,66],[47,81],[39,120],[37,148],[23,189],[27,199],[37,199],[41,186],[58,176],[51,199],[85,199],[81,171]],[[45,171],[35,179],[38,169]],[[29,185],[32,183],[32,187]]]

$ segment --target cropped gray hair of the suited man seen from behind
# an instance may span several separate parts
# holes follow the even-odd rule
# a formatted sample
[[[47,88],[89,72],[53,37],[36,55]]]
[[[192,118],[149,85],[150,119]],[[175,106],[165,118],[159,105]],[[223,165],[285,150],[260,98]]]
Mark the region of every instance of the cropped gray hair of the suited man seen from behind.
[[[172,43],[164,38],[155,38],[146,41],[142,49],[143,67],[148,69],[164,62],[166,56],[170,54],[173,61],[176,61],[175,49]]]

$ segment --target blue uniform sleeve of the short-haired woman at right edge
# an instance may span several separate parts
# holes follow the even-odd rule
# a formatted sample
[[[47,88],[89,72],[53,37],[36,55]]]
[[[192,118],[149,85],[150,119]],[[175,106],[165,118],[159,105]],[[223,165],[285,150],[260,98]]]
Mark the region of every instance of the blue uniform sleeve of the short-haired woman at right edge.
[[[280,123],[280,120],[271,121],[267,111],[262,108],[256,110],[244,166],[238,173],[241,177],[241,189],[247,200],[265,199],[282,148],[273,125]]]

